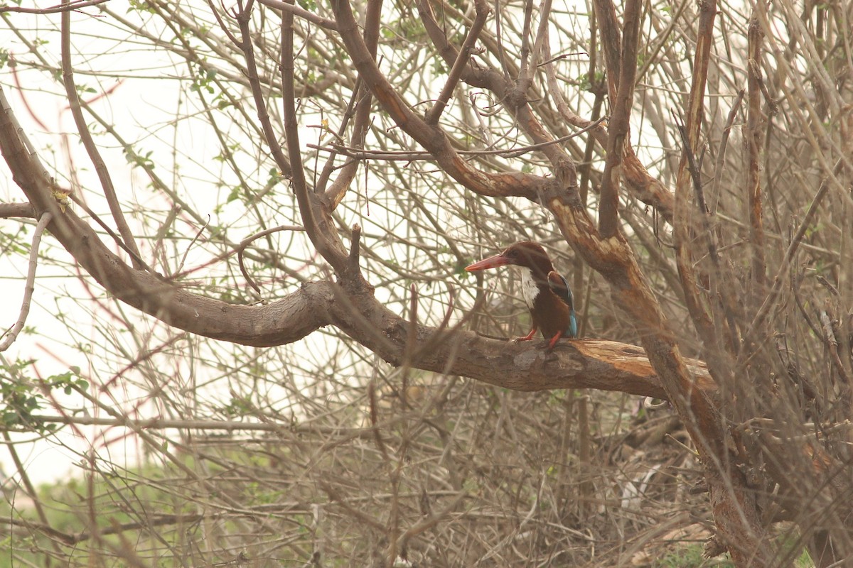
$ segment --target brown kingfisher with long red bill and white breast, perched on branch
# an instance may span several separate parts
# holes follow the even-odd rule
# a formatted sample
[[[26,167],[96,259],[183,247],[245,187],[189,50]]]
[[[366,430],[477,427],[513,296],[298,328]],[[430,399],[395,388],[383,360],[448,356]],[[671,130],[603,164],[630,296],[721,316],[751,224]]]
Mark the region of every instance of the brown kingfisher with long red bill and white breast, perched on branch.
[[[566,278],[554,270],[554,264],[541,244],[521,241],[510,245],[500,255],[490,256],[465,267],[469,273],[505,266],[519,267],[521,292],[533,320],[533,329],[514,341],[531,341],[537,330],[548,340],[548,351],[561,337],[577,337],[572,289]]]

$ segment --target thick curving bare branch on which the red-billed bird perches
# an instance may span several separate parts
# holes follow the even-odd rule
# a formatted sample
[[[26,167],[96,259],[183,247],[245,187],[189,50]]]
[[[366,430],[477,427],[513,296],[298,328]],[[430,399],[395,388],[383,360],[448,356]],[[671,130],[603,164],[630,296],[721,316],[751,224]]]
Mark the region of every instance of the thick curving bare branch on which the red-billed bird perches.
[[[7,112],[0,112],[0,150],[34,209],[39,214],[53,213],[50,232],[92,278],[120,301],[181,330],[271,347],[299,341],[331,324],[395,365],[403,364],[404,354],[410,353],[409,364],[421,370],[467,376],[514,390],[583,387],[665,398],[639,347],[612,341],[564,341],[554,353],[545,353],[535,345],[508,344],[472,331],[418,325],[415,333],[409,333],[409,322],[377,301],[363,280],[345,285],[306,283],[267,306],[234,305],[192,294],[158,274],[127,266],[72,209],[63,211]],[[407,341],[415,344],[407,346]],[[694,373],[702,390],[712,387],[699,364]]]

